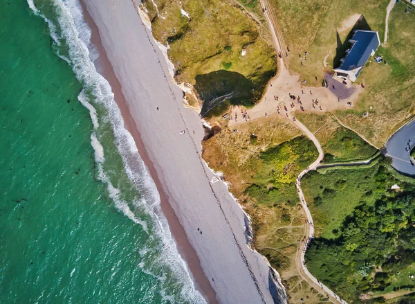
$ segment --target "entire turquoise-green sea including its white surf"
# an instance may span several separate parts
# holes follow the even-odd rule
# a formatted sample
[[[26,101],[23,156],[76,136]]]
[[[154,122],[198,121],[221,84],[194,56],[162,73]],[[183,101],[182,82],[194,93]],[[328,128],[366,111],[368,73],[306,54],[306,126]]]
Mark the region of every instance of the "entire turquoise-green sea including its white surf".
[[[203,303],[81,11],[0,3],[0,303]]]

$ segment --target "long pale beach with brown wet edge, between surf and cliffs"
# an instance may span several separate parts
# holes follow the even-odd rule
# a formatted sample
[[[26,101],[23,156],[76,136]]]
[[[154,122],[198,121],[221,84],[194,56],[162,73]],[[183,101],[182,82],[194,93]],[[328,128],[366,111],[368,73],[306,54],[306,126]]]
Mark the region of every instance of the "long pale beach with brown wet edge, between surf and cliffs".
[[[183,91],[172,82],[165,58],[133,2],[84,4],[116,76],[107,80],[156,181],[163,212],[196,287],[210,303],[278,302],[270,289],[280,296],[284,289],[270,279],[268,262],[248,247],[241,207],[223,182],[212,180],[214,173],[201,159],[200,117],[183,107]]]

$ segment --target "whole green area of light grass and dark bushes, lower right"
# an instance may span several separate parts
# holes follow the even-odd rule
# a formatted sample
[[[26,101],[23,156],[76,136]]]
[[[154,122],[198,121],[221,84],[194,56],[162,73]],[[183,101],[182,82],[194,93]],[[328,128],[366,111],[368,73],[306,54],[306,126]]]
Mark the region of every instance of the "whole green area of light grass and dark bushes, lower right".
[[[379,157],[368,166],[310,172],[302,180],[316,228],[306,265],[347,301],[415,290],[415,184],[392,174],[389,163]],[[394,184],[400,189],[391,190]]]

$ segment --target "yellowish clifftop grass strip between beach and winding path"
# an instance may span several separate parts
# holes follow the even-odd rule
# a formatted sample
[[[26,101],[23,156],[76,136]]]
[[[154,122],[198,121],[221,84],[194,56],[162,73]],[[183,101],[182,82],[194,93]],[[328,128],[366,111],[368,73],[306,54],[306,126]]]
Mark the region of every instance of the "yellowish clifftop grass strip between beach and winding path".
[[[311,141],[278,115],[234,128],[203,141],[203,159],[223,172],[231,192],[251,215],[255,248],[279,271],[289,303],[324,303],[297,273],[295,256],[305,218],[295,176],[317,158]]]

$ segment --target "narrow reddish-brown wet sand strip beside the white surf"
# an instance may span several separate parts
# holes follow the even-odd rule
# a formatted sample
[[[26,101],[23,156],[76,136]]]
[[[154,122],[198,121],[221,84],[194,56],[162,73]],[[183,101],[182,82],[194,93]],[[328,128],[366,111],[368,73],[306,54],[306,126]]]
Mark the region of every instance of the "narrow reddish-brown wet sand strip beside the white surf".
[[[206,278],[205,274],[203,273],[199,257],[197,256],[196,251],[187,239],[183,226],[181,226],[178,218],[174,213],[172,206],[170,206],[168,202],[167,195],[163,191],[160,179],[158,178],[156,169],[154,168],[154,163],[152,163],[152,161],[149,159],[145,144],[142,141],[140,133],[138,132],[138,127],[136,126],[136,123],[134,122],[133,118],[131,117],[131,114],[129,113],[129,107],[122,93],[121,84],[118,78],[116,78],[116,75],[113,71],[113,66],[111,65],[111,62],[109,62],[108,60],[107,52],[102,46],[98,27],[91,18],[91,15],[89,15],[84,0],[81,0],[80,3],[82,5],[84,19],[88,24],[89,28],[91,28],[91,43],[93,44],[93,46],[95,46],[98,53],[100,54],[100,57],[98,57],[98,59],[95,60],[99,63],[99,66],[97,66],[97,68],[102,74],[102,76],[104,76],[104,78],[111,85],[111,89],[114,93],[114,100],[120,108],[122,118],[124,119],[124,127],[127,129],[128,132],[130,132],[131,136],[133,136],[134,142],[136,143],[136,147],[138,150],[138,154],[140,154],[142,161],[144,161],[145,166],[147,167],[147,170],[149,170],[151,178],[154,180],[154,183],[156,184],[158,193],[160,195],[161,210],[163,212],[163,215],[167,219],[169,229],[172,232],[174,241],[176,242],[178,252],[185,260],[187,267],[190,270],[190,274],[193,278],[195,288],[198,289],[199,292],[201,292],[201,294],[208,301],[208,303],[218,303],[216,301],[216,293],[210,285],[208,278]]]

